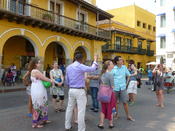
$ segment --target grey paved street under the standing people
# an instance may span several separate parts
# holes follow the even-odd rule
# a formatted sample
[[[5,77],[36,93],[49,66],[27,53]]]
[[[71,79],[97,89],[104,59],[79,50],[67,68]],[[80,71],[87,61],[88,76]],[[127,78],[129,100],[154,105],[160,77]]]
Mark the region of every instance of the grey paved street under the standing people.
[[[144,82],[143,82],[144,83]],[[48,94],[49,96],[49,94]],[[67,97],[66,97],[67,98]],[[66,102],[67,103],[67,100]],[[89,96],[86,112],[86,130],[100,131],[97,128],[99,113],[90,111]],[[115,131],[175,131],[175,91],[165,92],[165,108],[155,106],[156,96],[144,84],[138,89],[136,104],[129,107],[135,122],[126,120],[123,107],[120,105],[119,119],[114,120]],[[66,104],[65,104],[66,105]],[[42,129],[32,129],[31,118],[27,116],[27,95],[25,91],[0,94],[0,131],[64,131],[65,113],[55,113],[49,96],[49,119],[51,124]],[[73,131],[77,125],[73,125]],[[105,121],[104,131],[110,131],[108,121]]]

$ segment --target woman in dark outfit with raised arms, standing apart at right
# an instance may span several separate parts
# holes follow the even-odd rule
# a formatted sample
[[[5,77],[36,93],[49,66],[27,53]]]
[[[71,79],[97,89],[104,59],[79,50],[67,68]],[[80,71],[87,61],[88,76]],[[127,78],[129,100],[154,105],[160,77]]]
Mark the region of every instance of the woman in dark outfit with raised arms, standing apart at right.
[[[164,72],[163,72],[163,65],[159,64],[156,65],[153,69],[153,73],[155,74],[155,90],[156,90],[156,96],[157,96],[157,104],[156,106],[164,108]]]

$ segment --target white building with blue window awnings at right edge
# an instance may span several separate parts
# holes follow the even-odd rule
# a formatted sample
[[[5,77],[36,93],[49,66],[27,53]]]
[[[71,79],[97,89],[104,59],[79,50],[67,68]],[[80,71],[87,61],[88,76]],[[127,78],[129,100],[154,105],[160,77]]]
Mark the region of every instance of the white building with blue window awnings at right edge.
[[[175,0],[156,0],[156,61],[175,70]]]

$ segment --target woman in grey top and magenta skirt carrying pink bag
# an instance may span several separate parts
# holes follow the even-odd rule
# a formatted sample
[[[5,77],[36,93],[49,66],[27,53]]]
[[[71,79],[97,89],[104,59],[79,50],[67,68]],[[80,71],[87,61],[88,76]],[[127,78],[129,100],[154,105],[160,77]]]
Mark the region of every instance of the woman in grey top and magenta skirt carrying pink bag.
[[[106,86],[106,88],[111,88],[112,90],[114,88],[114,77],[111,73],[113,67],[114,65],[110,60],[104,63],[101,72],[101,84],[100,84]],[[109,128],[114,128],[112,110],[115,109],[115,106],[116,106],[115,93],[112,92],[111,100],[109,103],[101,102],[100,122],[98,124],[98,128],[100,129],[104,128],[104,118],[109,120]]]

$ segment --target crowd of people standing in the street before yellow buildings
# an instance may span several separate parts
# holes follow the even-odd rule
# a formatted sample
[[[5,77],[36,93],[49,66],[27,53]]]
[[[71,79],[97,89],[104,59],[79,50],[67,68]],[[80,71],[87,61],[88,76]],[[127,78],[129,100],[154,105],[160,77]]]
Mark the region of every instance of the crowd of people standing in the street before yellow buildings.
[[[52,69],[44,75],[41,71],[40,60],[34,58],[30,61],[28,72],[24,75],[24,84],[27,86],[29,95],[29,113],[32,116],[32,127],[42,128],[50,123],[48,120],[48,98],[47,90],[42,81],[48,81],[50,95],[52,96],[53,109],[55,112],[65,113],[65,130],[72,129],[72,121],[78,124],[78,131],[85,131],[85,114],[87,106],[87,79],[91,91],[92,106],[94,112],[100,111],[98,128],[104,129],[104,120],[109,121],[109,128],[114,128],[114,118],[119,116],[119,103],[123,104],[126,119],[135,121],[129,113],[129,105],[136,101],[137,88],[141,86],[141,71],[134,63],[128,67],[124,65],[121,56],[114,60],[107,60],[99,68],[98,56],[94,56],[91,66],[83,64],[83,55],[75,54],[75,60],[66,68],[66,72],[54,62]],[[64,76],[65,74],[65,76]],[[46,77],[47,76],[47,77]],[[154,76],[154,77],[153,77]],[[162,65],[157,65],[153,70],[148,69],[149,84],[154,84],[156,90],[157,106],[164,107],[163,87],[165,78],[169,78],[169,71]],[[170,85],[169,85],[170,86]],[[68,103],[64,107],[64,87],[68,87]],[[100,103],[100,105],[99,105]]]

